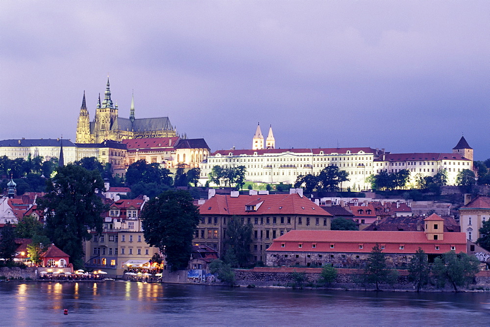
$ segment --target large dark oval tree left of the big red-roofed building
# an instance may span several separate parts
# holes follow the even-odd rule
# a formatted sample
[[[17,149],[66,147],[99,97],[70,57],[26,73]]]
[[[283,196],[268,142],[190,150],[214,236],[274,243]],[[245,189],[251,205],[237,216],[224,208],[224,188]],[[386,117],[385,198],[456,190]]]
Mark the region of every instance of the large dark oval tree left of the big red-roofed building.
[[[167,190],[149,200],[141,214],[146,242],[156,246],[175,271],[187,266],[199,223],[194,199],[184,190]]]

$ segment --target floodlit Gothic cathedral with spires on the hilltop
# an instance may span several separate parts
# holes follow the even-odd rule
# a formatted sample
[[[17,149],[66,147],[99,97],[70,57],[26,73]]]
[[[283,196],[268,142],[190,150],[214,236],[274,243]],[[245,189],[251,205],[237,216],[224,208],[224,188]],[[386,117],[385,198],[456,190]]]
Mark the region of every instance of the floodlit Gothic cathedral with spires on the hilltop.
[[[118,105],[114,105],[111,100],[109,86],[109,78],[107,78],[104,100],[100,102],[99,94],[93,121],[90,121],[85,103],[85,91],[83,92],[82,106],[76,126],[76,143],[102,143],[105,140],[121,142],[132,138],[177,136],[169,117],[136,119],[134,96],[131,101],[129,118],[119,117]]]

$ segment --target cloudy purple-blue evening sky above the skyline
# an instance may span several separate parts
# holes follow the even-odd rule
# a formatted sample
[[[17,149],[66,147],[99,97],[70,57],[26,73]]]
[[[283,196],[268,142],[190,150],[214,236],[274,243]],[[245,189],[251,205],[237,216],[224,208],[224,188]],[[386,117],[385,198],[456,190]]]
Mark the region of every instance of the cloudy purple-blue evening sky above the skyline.
[[[0,1],[0,139],[75,139],[110,77],[119,115],[212,151],[490,157],[490,1]]]

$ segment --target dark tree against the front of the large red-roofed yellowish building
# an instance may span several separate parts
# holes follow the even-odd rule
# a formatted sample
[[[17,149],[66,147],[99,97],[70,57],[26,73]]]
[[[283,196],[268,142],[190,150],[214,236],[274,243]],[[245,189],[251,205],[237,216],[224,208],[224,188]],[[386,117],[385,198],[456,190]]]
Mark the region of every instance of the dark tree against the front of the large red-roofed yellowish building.
[[[253,225],[244,223],[243,218],[232,216],[226,228],[226,240],[224,243],[228,249],[233,249],[239,266],[248,262],[250,244],[252,243]],[[228,251],[228,250],[227,250]]]

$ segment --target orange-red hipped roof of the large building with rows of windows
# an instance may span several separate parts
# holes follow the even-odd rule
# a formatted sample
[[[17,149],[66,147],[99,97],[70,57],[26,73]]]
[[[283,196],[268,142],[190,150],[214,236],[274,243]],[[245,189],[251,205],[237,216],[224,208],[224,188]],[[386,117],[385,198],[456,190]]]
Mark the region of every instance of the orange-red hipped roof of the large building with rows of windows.
[[[245,211],[246,204],[256,211]],[[260,205],[258,205],[260,203]],[[315,202],[298,194],[215,195],[199,207],[201,215],[314,215],[332,216]]]

